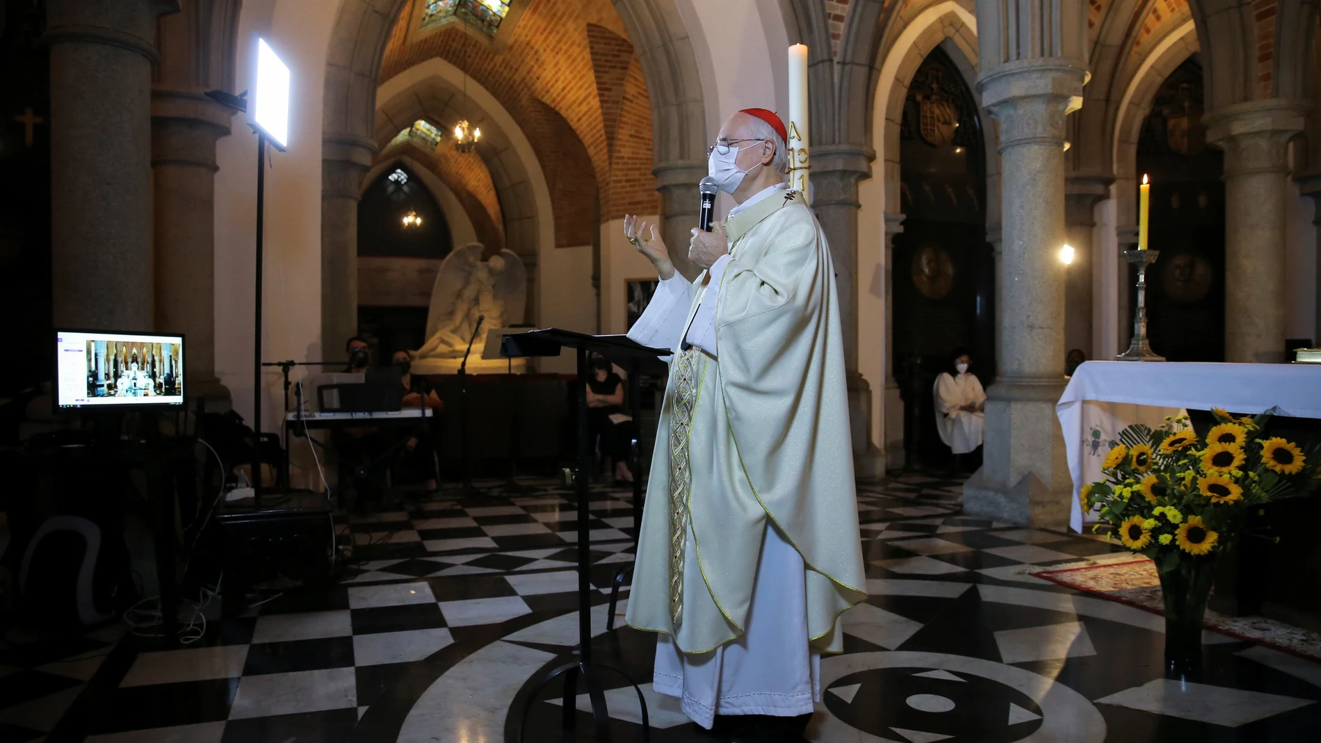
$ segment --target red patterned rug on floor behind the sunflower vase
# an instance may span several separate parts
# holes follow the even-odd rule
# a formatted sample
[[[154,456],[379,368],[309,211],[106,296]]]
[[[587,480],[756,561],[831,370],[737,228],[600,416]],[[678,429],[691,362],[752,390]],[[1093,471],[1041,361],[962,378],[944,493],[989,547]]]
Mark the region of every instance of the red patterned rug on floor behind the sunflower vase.
[[[1069,589],[1127,603],[1153,614],[1165,614],[1156,566],[1145,557],[1125,562],[1042,570],[1032,574]],[[1226,616],[1206,610],[1205,624],[1230,637],[1258,643],[1309,660],[1321,661],[1321,633],[1264,616]]]

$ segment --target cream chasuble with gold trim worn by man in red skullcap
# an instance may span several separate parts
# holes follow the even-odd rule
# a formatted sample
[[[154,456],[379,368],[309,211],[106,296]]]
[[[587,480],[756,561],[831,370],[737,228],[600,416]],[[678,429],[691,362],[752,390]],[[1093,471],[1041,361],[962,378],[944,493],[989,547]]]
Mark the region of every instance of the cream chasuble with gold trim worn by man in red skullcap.
[[[740,640],[758,560],[783,542],[797,562],[771,554],[774,579],[801,583],[802,598],[768,597],[761,611],[801,612],[808,652],[840,652],[839,615],[867,594],[830,248],[797,191],[750,205],[725,230],[732,257],[719,284],[703,273],[686,292],[684,325],[658,321],[672,307],[649,306],[654,317],[630,333],[674,356],[626,620],[690,659]],[[666,289],[670,304],[684,296]],[[715,356],[680,343],[712,292]],[[746,645],[749,657],[791,652]]]

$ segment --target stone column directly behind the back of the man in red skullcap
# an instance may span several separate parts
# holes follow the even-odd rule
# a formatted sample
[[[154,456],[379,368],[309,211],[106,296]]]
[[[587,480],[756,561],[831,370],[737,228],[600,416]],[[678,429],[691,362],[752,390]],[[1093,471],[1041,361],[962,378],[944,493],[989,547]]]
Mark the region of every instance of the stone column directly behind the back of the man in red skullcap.
[[[885,454],[872,442],[872,388],[857,371],[857,182],[871,177],[876,153],[856,145],[812,148],[812,211],[835,261],[835,286],[844,334],[853,470],[860,478],[885,474]],[[902,429],[901,429],[902,430]]]

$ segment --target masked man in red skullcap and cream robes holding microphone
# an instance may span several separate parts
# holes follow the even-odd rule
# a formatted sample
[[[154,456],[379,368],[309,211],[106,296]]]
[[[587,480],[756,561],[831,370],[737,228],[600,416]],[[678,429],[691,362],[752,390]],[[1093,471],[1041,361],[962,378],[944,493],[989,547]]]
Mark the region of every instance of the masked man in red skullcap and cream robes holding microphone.
[[[658,633],[654,689],[737,742],[802,740],[867,598],[835,271],[785,139],[762,108],[721,127],[708,168],[737,206],[692,231],[691,282],[625,218],[660,277],[629,337],[672,351],[626,619]]]

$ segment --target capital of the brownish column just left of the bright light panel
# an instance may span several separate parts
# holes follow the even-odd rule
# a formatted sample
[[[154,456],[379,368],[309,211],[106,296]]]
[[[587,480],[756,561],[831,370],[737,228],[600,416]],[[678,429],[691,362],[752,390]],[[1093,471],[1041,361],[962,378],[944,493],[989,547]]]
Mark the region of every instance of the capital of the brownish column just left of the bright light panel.
[[[152,166],[186,165],[213,173],[215,141],[230,133],[234,110],[197,91],[152,90]]]

